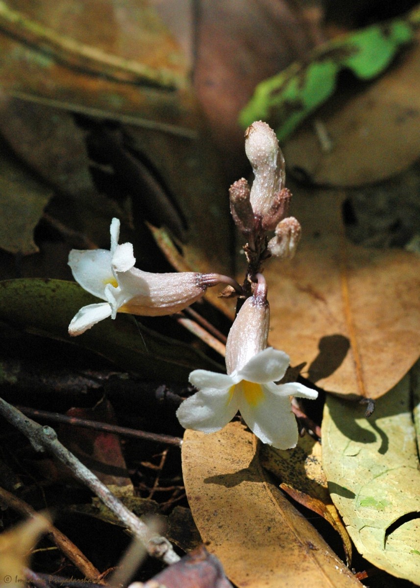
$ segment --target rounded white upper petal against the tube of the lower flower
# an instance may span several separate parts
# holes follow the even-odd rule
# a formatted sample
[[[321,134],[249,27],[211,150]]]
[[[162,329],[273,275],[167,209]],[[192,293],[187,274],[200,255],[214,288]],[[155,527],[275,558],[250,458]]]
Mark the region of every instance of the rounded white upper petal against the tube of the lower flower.
[[[289,356],[284,351],[268,347],[254,355],[238,371],[238,375],[242,380],[248,380],[248,382],[258,382],[259,384],[276,382],[285,375],[289,360]]]

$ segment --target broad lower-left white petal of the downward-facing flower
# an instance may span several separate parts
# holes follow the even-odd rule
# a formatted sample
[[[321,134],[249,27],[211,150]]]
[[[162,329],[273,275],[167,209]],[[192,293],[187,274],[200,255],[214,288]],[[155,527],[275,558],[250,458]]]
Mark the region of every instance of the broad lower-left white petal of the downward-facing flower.
[[[185,429],[214,433],[228,424],[238,412],[236,395],[229,388],[216,390],[205,388],[184,400],[176,411],[179,422]]]

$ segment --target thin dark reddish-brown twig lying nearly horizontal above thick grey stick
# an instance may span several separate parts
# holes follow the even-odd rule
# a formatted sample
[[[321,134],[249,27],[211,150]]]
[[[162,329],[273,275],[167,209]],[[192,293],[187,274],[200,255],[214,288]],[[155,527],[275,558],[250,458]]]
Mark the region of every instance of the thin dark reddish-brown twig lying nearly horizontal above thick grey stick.
[[[48,412],[48,410],[38,410],[29,408],[28,406],[16,406],[16,408],[21,410],[24,415],[39,417],[39,419],[50,420],[55,423],[65,423],[66,425],[74,425],[83,427],[84,429],[114,433],[114,435],[121,435],[123,437],[133,437],[134,439],[145,439],[147,441],[154,441],[155,443],[165,443],[165,445],[175,445],[175,447],[181,447],[182,445],[182,439],[180,437],[148,433],[146,431],[130,429],[129,427],[100,423],[97,420],[79,419],[79,417],[61,415],[58,412]]]

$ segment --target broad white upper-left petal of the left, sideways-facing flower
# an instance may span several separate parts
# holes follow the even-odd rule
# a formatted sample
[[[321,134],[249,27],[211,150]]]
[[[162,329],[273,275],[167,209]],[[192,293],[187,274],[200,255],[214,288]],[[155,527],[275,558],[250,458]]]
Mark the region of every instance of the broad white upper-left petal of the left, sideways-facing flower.
[[[111,252],[106,249],[72,249],[68,263],[76,282],[94,296],[105,300],[106,284],[115,282],[111,259]]]

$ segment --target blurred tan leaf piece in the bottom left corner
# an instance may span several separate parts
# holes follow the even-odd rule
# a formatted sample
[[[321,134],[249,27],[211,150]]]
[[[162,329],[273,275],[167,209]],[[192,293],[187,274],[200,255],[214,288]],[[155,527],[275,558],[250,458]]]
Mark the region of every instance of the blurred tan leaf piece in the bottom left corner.
[[[0,574],[2,586],[18,588],[25,583],[24,568],[28,567],[31,549],[49,529],[45,516],[35,515],[0,534]]]

